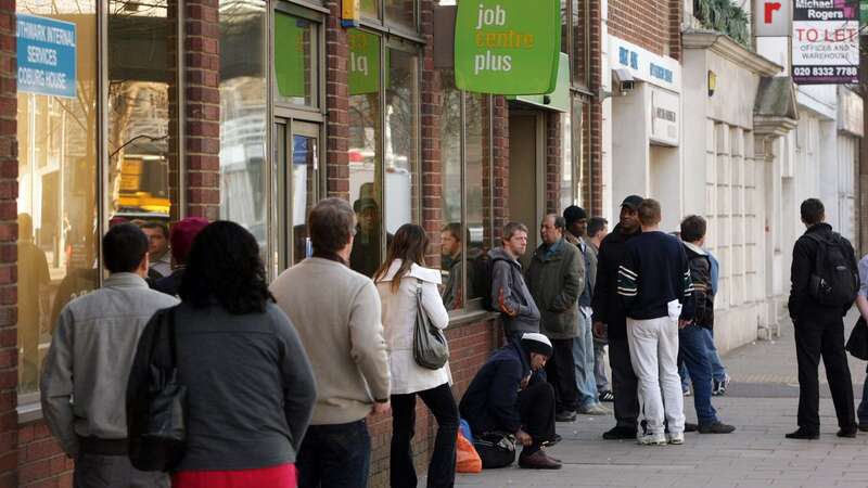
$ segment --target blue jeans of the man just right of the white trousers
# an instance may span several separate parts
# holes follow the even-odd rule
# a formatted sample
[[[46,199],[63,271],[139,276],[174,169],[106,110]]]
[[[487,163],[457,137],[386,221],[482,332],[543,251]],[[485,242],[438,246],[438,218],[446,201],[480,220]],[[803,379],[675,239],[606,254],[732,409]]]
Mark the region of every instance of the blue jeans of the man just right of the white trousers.
[[[712,363],[705,337],[699,325],[688,325],[678,332],[678,352],[693,380],[693,407],[700,425],[717,422],[717,412],[712,407]]]

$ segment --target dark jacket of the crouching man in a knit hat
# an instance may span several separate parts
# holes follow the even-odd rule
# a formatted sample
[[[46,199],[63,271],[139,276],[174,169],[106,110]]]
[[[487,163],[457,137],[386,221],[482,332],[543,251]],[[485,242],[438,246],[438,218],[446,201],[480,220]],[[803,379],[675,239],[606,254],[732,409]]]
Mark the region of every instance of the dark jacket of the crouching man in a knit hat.
[[[518,343],[498,349],[473,377],[459,410],[474,433],[515,433],[522,426],[519,390],[531,374],[528,354]]]

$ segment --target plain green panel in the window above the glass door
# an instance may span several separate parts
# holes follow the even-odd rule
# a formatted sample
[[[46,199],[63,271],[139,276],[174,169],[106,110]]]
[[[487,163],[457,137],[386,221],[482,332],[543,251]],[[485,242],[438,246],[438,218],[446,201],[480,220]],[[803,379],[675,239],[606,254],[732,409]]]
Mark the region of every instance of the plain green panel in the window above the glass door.
[[[275,72],[281,97],[305,95],[305,31],[308,22],[275,14]]]

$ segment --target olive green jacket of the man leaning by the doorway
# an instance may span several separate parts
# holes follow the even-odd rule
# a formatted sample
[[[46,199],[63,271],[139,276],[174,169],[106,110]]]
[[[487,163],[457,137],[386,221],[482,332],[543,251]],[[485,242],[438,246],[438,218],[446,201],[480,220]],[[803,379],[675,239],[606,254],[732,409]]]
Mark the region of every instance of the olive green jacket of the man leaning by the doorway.
[[[541,314],[540,332],[549,338],[578,336],[578,296],[585,290],[585,259],[578,247],[561,240],[549,253],[545,244],[534,252],[527,268],[527,287]]]

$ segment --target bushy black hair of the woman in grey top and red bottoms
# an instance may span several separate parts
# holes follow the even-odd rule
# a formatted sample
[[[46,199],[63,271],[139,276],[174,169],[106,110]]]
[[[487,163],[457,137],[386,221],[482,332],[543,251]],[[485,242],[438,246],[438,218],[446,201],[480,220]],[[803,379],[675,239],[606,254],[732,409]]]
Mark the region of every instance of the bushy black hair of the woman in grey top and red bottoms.
[[[178,294],[196,308],[217,301],[233,314],[264,312],[273,297],[256,237],[227,220],[202,229],[187,256]]]

